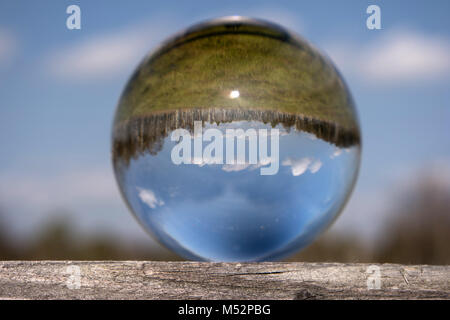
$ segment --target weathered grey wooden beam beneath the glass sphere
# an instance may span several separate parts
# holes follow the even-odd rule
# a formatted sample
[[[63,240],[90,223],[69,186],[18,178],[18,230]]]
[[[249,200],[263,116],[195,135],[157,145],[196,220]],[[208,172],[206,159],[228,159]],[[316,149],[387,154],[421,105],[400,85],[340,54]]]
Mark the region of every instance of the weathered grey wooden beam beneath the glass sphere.
[[[368,264],[4,261],[0,298],[450,299],[450,266],[378,266],[369,289]]]

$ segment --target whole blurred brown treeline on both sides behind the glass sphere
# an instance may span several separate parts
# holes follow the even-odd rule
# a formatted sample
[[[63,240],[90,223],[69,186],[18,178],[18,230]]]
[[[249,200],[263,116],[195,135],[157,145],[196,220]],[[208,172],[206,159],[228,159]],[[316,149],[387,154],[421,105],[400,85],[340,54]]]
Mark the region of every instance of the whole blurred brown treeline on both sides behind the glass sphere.
[[[450,263],[450,191],[433,180],[423,179],[398,199],[382,237],[368,248],[356,236],[325,233],[305,250],[285,260],[371,262],[403,264]],[[370,205],[370,204],[368,204]],[[112,234],[86,237],[73,231],[69,220],[57,219],[34,237],[15,245],[0,220],[2,260],[181,260],[165,249],[142,243],[124,243]]]

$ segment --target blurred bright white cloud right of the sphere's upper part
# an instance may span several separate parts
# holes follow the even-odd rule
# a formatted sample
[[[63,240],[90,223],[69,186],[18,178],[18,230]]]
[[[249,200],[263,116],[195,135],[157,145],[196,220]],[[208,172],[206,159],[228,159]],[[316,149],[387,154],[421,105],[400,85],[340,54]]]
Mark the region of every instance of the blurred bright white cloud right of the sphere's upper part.
[[[448,38],[406,30],[383,30],[362,46],[331,44],[327,52],[344,72],[376,83],[428,80],[450,72]]]

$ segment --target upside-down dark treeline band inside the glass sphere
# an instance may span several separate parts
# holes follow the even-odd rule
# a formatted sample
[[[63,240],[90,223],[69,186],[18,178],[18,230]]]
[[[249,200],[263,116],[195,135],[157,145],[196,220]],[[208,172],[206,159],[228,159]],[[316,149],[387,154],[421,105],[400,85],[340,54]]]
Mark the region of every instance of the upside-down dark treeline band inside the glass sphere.
[[[232,121],[259,121],[272,127],[281,124],[286,130],[295,128],[346,148],[359,144],[357,129],[342,128],[334,122],[318,120],[299,114],[249,109],[187,109],[154,113],[116,124],[113,132],[114,160],[126,164],[146,152],[155,155],[162,150],[164,139],[177,128],[194,130],[194,121],[224,123]]]

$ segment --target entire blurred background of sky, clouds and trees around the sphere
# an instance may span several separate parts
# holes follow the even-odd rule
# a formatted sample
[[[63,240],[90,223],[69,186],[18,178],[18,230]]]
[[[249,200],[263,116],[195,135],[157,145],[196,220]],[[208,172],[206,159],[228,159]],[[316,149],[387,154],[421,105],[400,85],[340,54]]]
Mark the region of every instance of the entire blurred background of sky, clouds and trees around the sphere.
[[[68,30],[66,8],[81,8]],[[381,30],[366,9],[381,8]],[[450,263],[450,1],[0,0],[0,259],[179,257],[120,198],[112,118],[140,59],[201,20],[244,15],[299,33],[358,107],[362,166],[335,224],[286,260]]]

